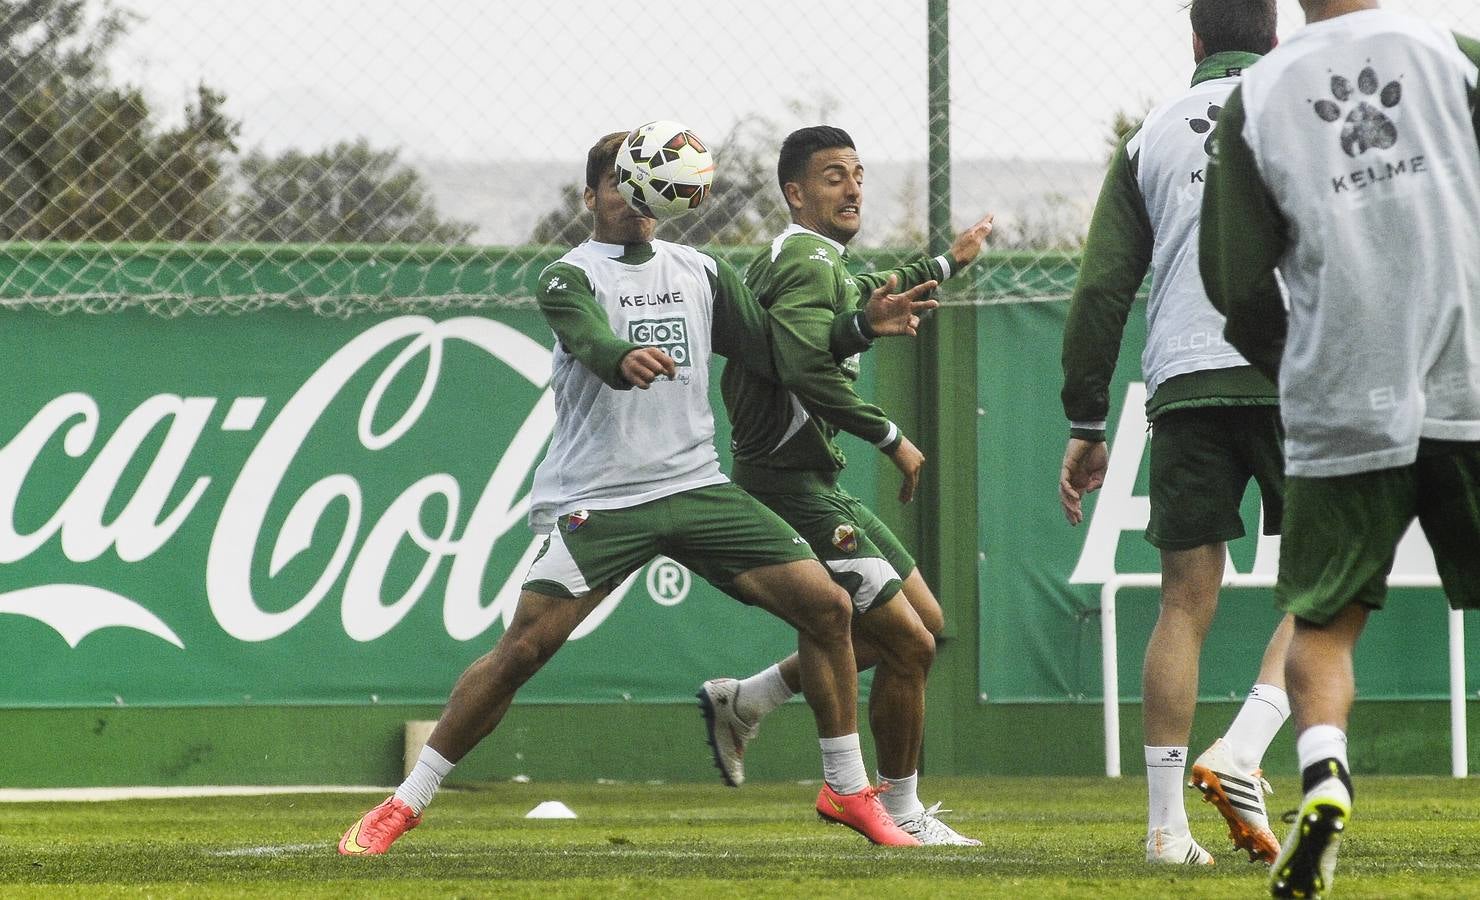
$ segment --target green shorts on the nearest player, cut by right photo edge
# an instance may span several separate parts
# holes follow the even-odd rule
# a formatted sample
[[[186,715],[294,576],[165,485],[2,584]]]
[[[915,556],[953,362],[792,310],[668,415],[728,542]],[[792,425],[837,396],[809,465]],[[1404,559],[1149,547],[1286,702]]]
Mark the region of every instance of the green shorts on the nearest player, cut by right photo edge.
[[[1382,608],[1413,518],[1455,608],[1480,608],[1480,443],[1419,441],[1396,469],[1286,481],[1279,605],[1317,625],[1348,604]]]

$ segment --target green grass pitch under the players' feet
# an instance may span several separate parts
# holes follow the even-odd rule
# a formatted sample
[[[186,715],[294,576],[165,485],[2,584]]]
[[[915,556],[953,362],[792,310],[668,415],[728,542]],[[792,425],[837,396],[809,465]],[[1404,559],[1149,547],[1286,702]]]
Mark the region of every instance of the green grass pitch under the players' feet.
[[[1209,869],[1143,862],[1140,779],[925,777],[980,848],[884,850],[821,825],[815,786],[485,785],[444,790],[388,856],[342,859],[373,795],[0,807],[3,897],[1258,897],[1188,792]],[[1270,798],[1276,816],[1295,788]],[[525,820],[559,799],[577,820]],[[1480,783],[1359,777],[1338,897],[1480,894]],[[1276,825],[1283,838],[1285,826]]]

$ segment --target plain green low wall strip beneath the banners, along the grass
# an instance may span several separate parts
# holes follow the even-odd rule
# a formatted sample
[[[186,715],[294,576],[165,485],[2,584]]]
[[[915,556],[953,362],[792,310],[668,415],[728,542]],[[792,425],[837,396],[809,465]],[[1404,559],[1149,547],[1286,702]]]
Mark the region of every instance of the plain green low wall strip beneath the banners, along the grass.
[[[1480,706],[1480,705],[1473,705]],[[1211,743],[1233,703],[1205,703],[1193,746]],[[403,724],[431,706],[7,709],[3,788],[114,785],[395,785]],[[955,722],[950,750],[925,748],[926,774],[1095,776],[1104,771],[1098,705],[977,706]],[[866,719],[864,719],[866,721]],[[1140,708],[1122,708],[1122,759],[1138,776]],[[1447,774],[1446,703],[1359,703],[1351,716],[1357,774]],[[1286,728],[1265,756],[1271,779],[1295,774]],[[944,753],[944,755],[941,755]],[[873,770],[873,750],[864,737]],[[789,703],[746,752],[752,780],[818,777],[808,709]],[[1470,753],[1480,770],[1480,755]],[[688,705],[519,705],[457,767],[454,782],[704,782],[716,779],[703,721]]]

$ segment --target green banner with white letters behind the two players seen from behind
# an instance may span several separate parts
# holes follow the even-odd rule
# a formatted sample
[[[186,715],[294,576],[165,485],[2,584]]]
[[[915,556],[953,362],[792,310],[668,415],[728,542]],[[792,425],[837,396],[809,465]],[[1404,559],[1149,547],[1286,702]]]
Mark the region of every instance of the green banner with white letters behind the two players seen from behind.
[[[1140,351],[1146,306],[1131,311],[1110,398],[1110,469],[1077,528],[1058,508],[1058,471],[1069,429],[1058,389],[1067,303],[989,305],[978,309],[980,417],[980,699],[986,702],[1098,700],[1101,693],[1100,589],[1114,574],[1156,573],[1156,549],[1143,537],[1147,447]],[[1259,537],[1257,488],[1243,502],[1246,537],[1228,545],[1230,571],[1276,571],[1279,539]],[[1394,573],[1433,576],[1434,561],[1415,528]],[[1157,591],[1117,595],[1120,697],[1138,699],[1141,659],[1156,622]],[[1470,656],[1480,650],[1474,614]],[[1203,699],[1242,697],[1279,622],[1273,592],[1225,588],[1202,654]],[[1362,699],[1446,697],[1447,613],[1431,589],[1393,589],[1357,648]],[[1480,672],[1468,674],[1468,690]]]

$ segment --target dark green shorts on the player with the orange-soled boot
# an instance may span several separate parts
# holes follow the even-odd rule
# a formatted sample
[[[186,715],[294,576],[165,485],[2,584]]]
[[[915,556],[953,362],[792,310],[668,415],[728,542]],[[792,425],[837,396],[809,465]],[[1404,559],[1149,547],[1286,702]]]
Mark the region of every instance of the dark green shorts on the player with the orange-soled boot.
[[[1151,422],[1151,521],[1146,539],[1187,551],[1243,537],[1239,506],[1249,478],[1264,500],[1264,533],[1285,512],[1285,440],[1276,406],[1209,406]]]

